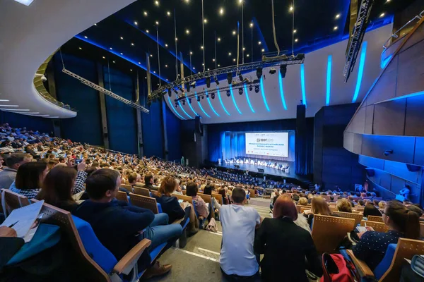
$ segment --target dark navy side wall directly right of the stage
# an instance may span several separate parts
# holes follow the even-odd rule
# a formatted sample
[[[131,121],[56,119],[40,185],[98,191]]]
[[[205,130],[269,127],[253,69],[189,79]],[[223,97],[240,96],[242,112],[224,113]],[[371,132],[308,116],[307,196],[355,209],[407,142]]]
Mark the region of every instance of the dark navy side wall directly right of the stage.
[[[358,155],[343,148],[343,131],[359,104],[322,107],[314,118],[314,183],[323,189],[353,190],[365,181]]]

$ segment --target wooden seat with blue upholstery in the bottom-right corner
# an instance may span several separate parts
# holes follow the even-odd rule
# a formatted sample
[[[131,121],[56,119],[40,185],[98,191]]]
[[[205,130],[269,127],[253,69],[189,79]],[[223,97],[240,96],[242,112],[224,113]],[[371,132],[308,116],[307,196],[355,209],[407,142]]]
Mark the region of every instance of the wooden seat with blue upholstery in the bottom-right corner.
[[[399,282],[401,266],[406,263],[405,259],[412,259],[414,255],[424,255],[424,241],[399,238],[397,244],[389,244],[386,255],[374,272],[365,262],[356,258],[352,250],[347,250],[347,253],[358,269],[361,278],[374,278],[379,282]]]

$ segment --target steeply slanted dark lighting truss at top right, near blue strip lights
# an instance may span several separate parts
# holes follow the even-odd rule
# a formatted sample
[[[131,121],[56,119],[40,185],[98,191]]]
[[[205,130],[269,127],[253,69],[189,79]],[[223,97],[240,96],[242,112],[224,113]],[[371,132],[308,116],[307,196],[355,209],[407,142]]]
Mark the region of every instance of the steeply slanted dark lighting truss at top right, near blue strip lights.
[[[374,4],[374,0],[362,0],[360,2],[360,9],[358,12],[358,18],[356,18],[355,27],[353,27],[352,37],[346,51],[346,63],[343,69],[343,76],[345,82],[348,81],[351,76],[351,72],[355,67],[356,59],[358,58],[360,45],[363,42],[365,30],[367,30],[368,18]]]

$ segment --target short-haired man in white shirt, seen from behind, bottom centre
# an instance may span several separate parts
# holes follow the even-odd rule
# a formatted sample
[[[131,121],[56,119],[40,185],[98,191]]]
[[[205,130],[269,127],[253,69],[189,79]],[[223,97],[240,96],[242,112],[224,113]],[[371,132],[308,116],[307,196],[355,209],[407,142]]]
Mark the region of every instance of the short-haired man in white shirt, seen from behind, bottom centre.
[[[259,273],[253,244],[254,231],[261,223],[261,216],[253,207],[245,206],[246,192],[242,188],[232,190],[231,200],[232,204],[223,205],[220,209],[223,226],[220,269],[223,276],[230,280],[253,278]]]

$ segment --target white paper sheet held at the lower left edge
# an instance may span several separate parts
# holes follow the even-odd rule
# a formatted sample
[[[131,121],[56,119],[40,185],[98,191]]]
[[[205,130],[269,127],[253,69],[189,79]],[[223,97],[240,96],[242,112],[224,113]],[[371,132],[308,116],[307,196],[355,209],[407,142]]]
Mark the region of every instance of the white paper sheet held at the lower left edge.
[[[40,214],[42,204],[44,200],[29,204],[28,206],[21,207],[19,209],[13,209],[11,214],[1,224],[1,226],[11,226],[13,223],[13,229],[15,229],[19,238],[25,238],[30,228],[33,226],[35,219]],[[29,241],[28,241],[29,242]],[[26,241],[25,241],[26,243]]]

